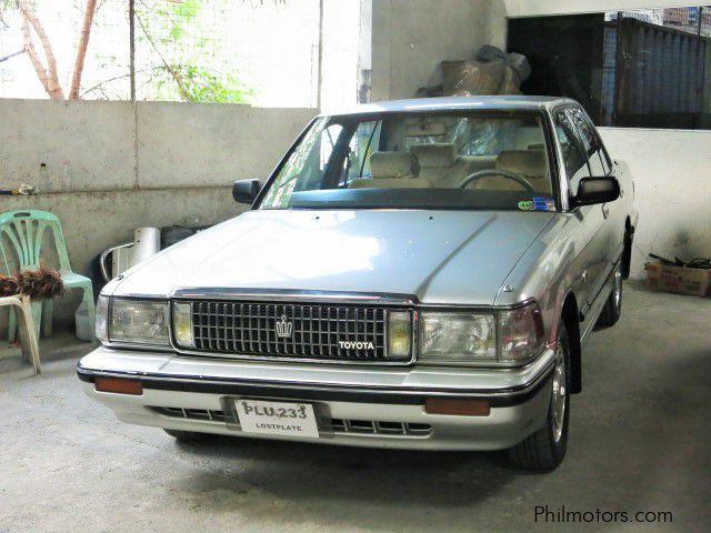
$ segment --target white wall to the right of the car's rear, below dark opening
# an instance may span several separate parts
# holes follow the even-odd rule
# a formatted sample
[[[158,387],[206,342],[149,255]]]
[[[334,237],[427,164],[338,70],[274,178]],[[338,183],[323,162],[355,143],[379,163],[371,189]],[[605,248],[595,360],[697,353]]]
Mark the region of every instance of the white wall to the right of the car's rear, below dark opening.
[[[690,260],[711,255],[711,131],[600,128],[615,159],[635,179],[640,222],[632,276],[644,276],[647,254]]]

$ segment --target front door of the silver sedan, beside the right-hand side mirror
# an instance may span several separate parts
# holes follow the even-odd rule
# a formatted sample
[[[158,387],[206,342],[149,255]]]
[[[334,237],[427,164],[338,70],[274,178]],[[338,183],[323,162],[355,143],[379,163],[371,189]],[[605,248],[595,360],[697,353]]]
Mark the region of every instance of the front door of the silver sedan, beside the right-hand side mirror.
[[[563,171],[571,197],[578,193],[582,178],[591,175],[588,154],[583,149],[570,107],[559,108],[553,112],[555,137],[563,159]],[[570,211],[577,224],[574,232],[575,260],[573,269],[577,276],[573,290],[578,295],[580,311],[587,314],[599,288],[605,264],[605,242],[603,234],[604,217],[600,205],[577,207]]]

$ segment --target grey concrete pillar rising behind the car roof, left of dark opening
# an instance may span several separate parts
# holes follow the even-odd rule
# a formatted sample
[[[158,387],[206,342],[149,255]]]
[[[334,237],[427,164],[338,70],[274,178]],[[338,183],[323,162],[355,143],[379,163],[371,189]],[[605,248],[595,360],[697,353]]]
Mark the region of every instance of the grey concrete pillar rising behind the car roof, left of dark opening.
[[[441,81],[444,60],[505,47],[501,0],[373,0],[372,100],[411,98]]]

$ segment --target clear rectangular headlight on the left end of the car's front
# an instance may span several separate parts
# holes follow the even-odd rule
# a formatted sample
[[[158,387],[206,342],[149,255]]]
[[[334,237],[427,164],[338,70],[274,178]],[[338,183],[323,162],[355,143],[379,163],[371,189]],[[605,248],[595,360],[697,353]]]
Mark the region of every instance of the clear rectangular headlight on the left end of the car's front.
[[[168,302],[116,298],[109,301],[101,296],[97,309],[97,338],[110,342],[170,345]]]

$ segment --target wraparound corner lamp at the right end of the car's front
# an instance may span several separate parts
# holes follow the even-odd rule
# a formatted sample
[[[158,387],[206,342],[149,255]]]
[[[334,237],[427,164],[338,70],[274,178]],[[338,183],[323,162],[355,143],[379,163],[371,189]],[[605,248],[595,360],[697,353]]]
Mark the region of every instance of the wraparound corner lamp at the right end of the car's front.
[[[543,348],[543,319],[534,301],[499,313],[499,359],[524,361]]]

